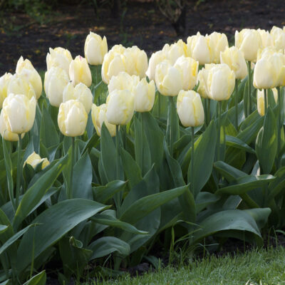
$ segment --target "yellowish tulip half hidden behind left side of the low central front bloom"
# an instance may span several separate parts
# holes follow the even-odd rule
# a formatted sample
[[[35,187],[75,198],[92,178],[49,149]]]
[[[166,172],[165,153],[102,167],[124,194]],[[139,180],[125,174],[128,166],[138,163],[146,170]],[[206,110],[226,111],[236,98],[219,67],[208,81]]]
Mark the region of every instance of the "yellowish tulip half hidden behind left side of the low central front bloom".
[[[105,126],[108,128],[110,135],[112,137],[115,137],[115,125],[108,123],[106,112],[107,104],[102,104],[100,106],[97,106],[95,104],[92,105],[91,116],[94,128],[97,132],[97,135],[100,137],[102,125],[105,123]]]

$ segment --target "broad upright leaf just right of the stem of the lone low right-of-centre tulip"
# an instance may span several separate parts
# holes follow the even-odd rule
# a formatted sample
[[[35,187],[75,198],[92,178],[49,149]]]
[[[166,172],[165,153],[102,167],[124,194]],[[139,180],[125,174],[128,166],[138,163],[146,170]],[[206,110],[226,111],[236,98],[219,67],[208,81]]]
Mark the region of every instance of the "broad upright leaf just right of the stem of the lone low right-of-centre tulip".
[[[202,187],[207,183],[212,173],[214,163],[214,152],[216,149],[216,136],[217,130],[214,122],[212,121],[205,132],[202,134],[202,139],[195,147],[194,152],[194,169],[192,170],[191,164],[188,168],[188,182],[192,183],[194,190],[194,197],[202,190]],[[209,143],[211,142],[211,143]],[[191,181],[191,172],[194,172],[194,181]]]

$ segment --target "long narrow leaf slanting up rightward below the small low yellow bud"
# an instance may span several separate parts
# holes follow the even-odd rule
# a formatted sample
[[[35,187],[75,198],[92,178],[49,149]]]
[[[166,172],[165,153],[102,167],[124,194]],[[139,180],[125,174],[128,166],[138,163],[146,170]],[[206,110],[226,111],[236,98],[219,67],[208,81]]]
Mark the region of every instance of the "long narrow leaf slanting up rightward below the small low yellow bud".
[[[63,167],[65,167],[68,162],[68,156],[58,160],[53,167],[51,167],[44,175],[42,175],[38,180],[26,191],[21,199],[19,207],[17,208],[13,227],[16,229],[19,227],[21,222],[27,217],[31,212],[31,209],[41,201],[42,197],[46,194],[46,191],[53,185],[58,175],[60,175]]]

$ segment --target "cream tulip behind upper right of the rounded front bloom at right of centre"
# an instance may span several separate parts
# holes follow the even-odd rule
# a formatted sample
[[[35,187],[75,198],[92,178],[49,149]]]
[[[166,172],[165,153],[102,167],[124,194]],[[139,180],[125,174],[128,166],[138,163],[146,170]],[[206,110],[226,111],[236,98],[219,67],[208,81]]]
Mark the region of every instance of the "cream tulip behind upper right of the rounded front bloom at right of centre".
[[[234,71],[237,79],[243,79],[247,76],[247,62],[244,59],[244,54],[239,51],[237,46],[226,48],[220,53],[221,63],[227,64]]]

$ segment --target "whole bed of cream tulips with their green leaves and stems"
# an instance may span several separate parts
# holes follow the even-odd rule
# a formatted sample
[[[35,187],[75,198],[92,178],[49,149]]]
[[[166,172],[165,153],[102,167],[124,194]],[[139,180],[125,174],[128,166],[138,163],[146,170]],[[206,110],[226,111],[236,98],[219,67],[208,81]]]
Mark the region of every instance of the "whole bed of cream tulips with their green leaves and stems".
[[[155,264],[162,244],[283,228],[281,31],[245,29],[232,48],[197,33],[148,64],[90,33],[86,58],[50,48],[43,84],[20,58],[0,78],[1,284],[45,284],[51,261],[68,284]]]

